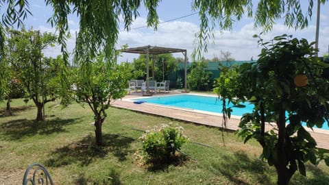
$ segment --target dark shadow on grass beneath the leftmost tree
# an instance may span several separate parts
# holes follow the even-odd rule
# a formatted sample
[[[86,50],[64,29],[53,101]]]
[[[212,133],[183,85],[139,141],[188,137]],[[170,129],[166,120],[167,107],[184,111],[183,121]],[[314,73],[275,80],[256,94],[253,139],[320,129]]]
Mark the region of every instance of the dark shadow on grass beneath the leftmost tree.
[[[65,132],[65,125],[70,125],[78,119],[51,119],[46,121],[35,121],[28,119],[11,120],[0,125],[1,132],[9,140],[18,140],[24,136],[35,134],[51,134],[54,132]]]

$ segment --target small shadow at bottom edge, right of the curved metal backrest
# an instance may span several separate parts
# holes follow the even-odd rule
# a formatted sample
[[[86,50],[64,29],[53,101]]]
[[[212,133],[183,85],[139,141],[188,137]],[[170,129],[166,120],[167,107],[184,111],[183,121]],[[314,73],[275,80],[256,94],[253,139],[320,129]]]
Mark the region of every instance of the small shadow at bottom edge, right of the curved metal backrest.
[[[86,184],[113,184],[113,185],[121,185],[120,181],[120,175],[117,171],[114,171],[114,169],[111,169],[110,173],[108,175],[104,175],[102,180],[95,180],[94,178],[88,178],[84,173],[81,173],[77,179],[74,181],[74,184],[79,185],[86,185]]]

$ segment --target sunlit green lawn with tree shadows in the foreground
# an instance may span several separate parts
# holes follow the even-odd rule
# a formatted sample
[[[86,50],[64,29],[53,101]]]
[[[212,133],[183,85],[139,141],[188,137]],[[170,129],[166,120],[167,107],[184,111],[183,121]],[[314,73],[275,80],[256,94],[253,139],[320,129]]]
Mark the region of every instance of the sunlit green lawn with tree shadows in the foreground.
[[[96,147],[93,114],[73,103],[46,105],[46,121],[36,122],[36,108],[12,101],[13,115],[0,103],[0,184],[21,184],[29,164],[44,164],[56,184],[276,184],[276,171],[258,159],[259,145],[243,144],[227,132],[171,119],[110,108],[103,124],[104,147]],[[141,165],[134,153],[138,138],[154,125],[174,122],[190,142],[182,163],[160,168]],[[291,184],[328,184],[329,167],[307,164],[307,176],[295,173]]]

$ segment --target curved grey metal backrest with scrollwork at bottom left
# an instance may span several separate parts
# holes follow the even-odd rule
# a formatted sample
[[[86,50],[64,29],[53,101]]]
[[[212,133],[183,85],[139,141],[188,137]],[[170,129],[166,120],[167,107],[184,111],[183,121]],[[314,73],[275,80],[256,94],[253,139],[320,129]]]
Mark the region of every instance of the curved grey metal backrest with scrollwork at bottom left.
[[[33,163],[27,167],[24,177],[23,185],[27,184],[50,184],[53,185],[53,180],[49,172],[41,164]]]

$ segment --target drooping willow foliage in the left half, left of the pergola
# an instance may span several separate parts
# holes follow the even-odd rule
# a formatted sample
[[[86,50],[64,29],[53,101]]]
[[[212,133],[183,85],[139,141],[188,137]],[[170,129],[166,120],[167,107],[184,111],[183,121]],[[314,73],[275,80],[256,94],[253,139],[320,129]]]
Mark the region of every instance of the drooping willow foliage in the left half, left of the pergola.
[[[23,21],[31,12],[29,12],[28,0],[1,0],[0,10],[5,9],[2,14],[0,24],[0,51],[4,49],[4,27],[12,25],[21,26]],[[80,29],[77,33],[77,45],[75,46],[75,55],[88,56],[95,58],[99,51],[104,51],[106,58],[114,56],[114,45],[119,36],[119,19],[123,17],[125,29],[130,29],[130,25],[138,16],[138,8],[141,7],[141,1],[57,1],[45,0],[46,5],[53,9],[53,16],[48,22],[56,27],[58,31],[58,42],[61,45],[62,55],[66,66],[69,66],[69,53],[66,49],[66,41],[70,38],[68,16],[76,14],[80,18]],[[155,27],[158,24],[158,14],[156,7],[158,0],[145,1],[145,7],[149,14],[147,16],[147,26]],[[0,55],[2,56],[2,55]],[[1,60],[2,62],[2,60]],[[62,70],[61,84],[62,96],[67,96],[66,90],[69,89],[67,76],[69,72]],[[5,76],[1,72],[0,77]],[[1,89],[5,87],[4,81],[0,80]],[[1,90],[0,93],[5,90]]]

